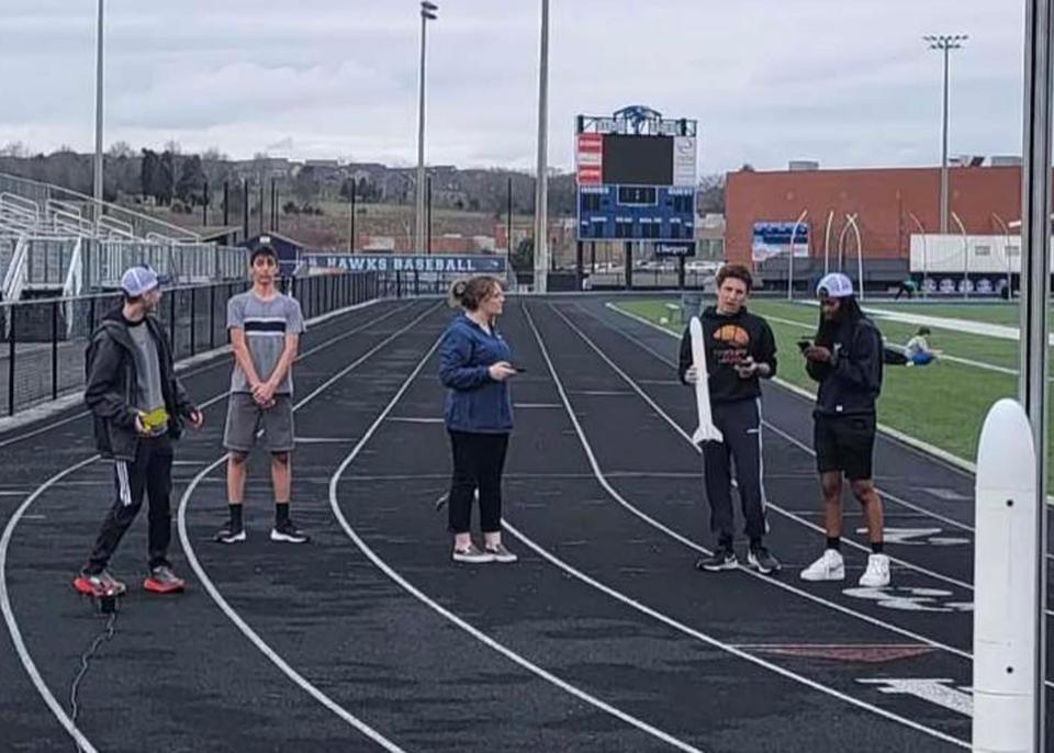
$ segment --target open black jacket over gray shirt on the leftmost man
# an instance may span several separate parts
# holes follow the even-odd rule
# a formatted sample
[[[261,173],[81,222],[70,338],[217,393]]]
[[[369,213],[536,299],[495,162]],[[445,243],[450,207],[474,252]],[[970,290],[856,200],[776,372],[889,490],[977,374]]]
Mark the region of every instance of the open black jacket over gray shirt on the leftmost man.
[[[172,349],[165,330],[153,316],[147,316],[147,327],[157,345],[157,362],[161,373],[161,393],[168,412],[168,435],[179,439],[182,419],[197,409],[187,391],[176,378]],[[85,387],[85,403],[94,414],[96,447],[103,458],[135,460],[139,435],[135,430],[135,344],[128,334],[121,308],[114,308],[103,317],[91,336],[89,352],[91,363]]]

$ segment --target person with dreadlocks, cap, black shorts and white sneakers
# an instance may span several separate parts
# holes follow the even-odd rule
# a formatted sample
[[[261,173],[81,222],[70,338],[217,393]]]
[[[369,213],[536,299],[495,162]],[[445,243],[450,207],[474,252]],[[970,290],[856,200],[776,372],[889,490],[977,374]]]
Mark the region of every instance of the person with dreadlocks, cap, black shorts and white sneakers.
[[[865,587],[889,584],[883,552],[882,499],[872,479],[875,400],[882,389],[882,334],[856,302],[852,281],[832,272],[817,285],[820,321],[814,342],[801,342],[806,371],[819,382],[814,417],[816,464],[823,495],[827,548],[801,571],[804,581],[842,581],[842,476],[864,508],[871,557],[860,578]]]

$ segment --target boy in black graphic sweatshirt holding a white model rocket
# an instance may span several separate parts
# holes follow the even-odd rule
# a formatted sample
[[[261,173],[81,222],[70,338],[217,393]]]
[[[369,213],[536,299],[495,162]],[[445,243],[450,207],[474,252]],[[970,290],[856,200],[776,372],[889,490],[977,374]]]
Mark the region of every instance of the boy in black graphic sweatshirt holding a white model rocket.
[[[753,278],[741,265],[717,273],[717,305],[685,329],[677,369],[683,384],[696,386],[700,422],[693,438],[702,445],[710,530],[717,548],[696,562],[698,570],[720,572],[739,565],[733,549],[732,471],[747,522],[747,562],[764,574],[780,561],[764,546],[765,490],[762,480],[761,380],[776,373],[776,342],[769,323],[747,311]],[[698,322],[698,324],[695,324]],[[696,357],[693,357],[693,329]],[[709,411],[704,409],[709,406]]]

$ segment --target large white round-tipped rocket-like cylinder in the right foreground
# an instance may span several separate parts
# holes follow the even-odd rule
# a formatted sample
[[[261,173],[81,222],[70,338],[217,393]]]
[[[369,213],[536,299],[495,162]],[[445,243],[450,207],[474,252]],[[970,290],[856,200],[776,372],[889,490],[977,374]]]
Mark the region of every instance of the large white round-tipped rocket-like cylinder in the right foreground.
[[[975,753],[1035,753],[1035,446],[1024,408],[988,412],[977,448]]]

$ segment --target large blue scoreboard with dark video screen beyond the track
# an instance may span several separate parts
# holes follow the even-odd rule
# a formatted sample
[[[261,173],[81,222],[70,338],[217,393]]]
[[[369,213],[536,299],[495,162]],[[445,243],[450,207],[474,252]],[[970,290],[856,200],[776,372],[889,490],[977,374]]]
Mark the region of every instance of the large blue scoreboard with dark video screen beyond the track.
[[[696,122],[647,108],[579,116],[579,240],[637,240],[694,256]]]

